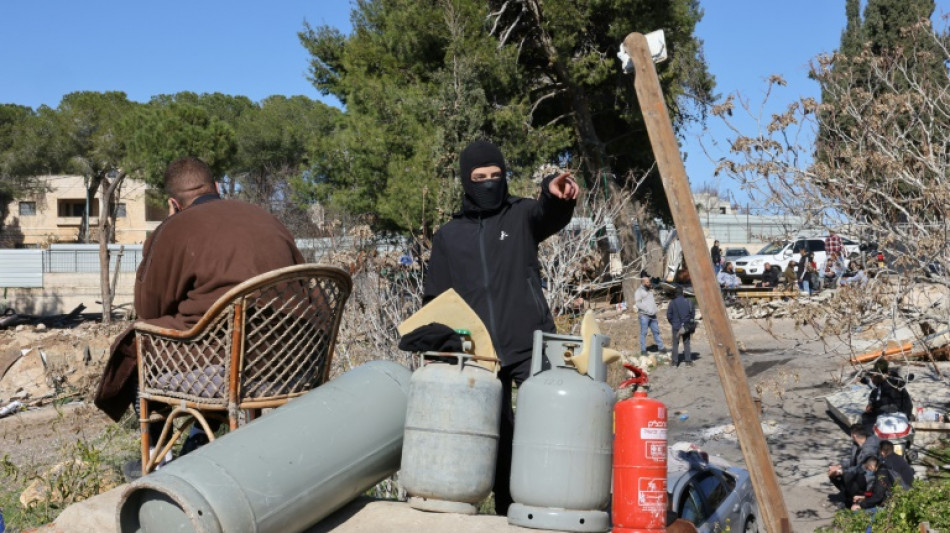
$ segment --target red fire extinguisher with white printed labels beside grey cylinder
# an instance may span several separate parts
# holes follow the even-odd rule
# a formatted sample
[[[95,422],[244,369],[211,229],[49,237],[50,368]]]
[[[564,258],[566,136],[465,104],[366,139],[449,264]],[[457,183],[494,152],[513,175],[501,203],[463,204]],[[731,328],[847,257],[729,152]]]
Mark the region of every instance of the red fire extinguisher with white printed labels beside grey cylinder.
[[[666,530],[666,406],[636,387],[647,383],[639,368],[625,364],[634,377],[633,397],[614,406],[613,532]]]

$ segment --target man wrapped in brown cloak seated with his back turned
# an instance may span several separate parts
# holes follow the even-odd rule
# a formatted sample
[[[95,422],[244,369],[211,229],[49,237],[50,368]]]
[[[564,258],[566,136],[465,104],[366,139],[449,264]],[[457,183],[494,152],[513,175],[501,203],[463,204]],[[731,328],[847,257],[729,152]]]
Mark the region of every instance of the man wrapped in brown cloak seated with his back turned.
[[[165,192],[169,216],[145,241],[135,278],[135,312],[145,323],[186,330],[235,285],[304,262],[293,236],[273,215],[222,200],[200,159],[170,164]],[[115,339],[96,391],[96,406],[115,421],[136,399],[134,340],[131,327]]]

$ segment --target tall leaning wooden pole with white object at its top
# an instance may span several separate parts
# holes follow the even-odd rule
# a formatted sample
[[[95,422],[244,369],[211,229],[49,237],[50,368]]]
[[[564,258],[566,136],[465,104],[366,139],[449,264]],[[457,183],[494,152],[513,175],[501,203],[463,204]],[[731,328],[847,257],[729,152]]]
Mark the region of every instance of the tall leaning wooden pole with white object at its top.
[[[683,246],[683,256],[689,268],[693,291],[703,312],[703,324],[719,371],[726,404],[736,426],[746,467],[752,477],[760,518],[770,533],[791,531],[788,510],[775,477],[759,413],[752,402],[745,369],[739,357],[739,348],[732,334],[719,284],[716,283],[709,252],[706,250],[706,239],[699,224],[693,195],[689,190],[686,169],[680,159],[679,146],[666,103],[663,101],[663,92],[653,66],[650,48],[646,37],[640,33],[628,35],[624,46],[636,68],[634,87],[663,179],[663,188],[670,202],[676,234]],[[741,527],[742,524],[736,526]]]

